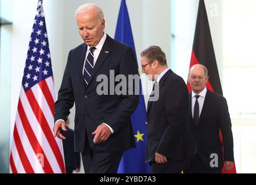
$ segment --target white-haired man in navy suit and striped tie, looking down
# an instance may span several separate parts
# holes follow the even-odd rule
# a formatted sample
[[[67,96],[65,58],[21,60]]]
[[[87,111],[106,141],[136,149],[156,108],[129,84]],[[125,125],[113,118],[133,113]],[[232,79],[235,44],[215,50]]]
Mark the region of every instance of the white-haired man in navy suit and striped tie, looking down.
[[[123,77],[138,75],[135,53],[104,32],[99,6],[82,5],[76,16],[84,43],[68,54],[55,102],[54,134],[65,139],[61,132],[66,131],[65,122],[75,102],[75,151],[82,153],[85,172],[116,173],[123,152],[135,147],[130,116],[139,95],[134,86],[122,86],[124,93],[116,93],[114,79],[122,76],[124,83]]]

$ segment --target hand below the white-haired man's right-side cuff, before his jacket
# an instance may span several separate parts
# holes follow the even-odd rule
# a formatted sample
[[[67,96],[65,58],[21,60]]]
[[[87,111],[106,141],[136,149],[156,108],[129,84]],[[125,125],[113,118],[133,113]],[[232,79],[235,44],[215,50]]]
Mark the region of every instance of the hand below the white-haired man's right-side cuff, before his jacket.
[[[100,143],[109,138],[111,131],[107,125],[102,123],[96,128],[94,132],[92,132],[92,134],[95,135],[93,138],[93,143]]]

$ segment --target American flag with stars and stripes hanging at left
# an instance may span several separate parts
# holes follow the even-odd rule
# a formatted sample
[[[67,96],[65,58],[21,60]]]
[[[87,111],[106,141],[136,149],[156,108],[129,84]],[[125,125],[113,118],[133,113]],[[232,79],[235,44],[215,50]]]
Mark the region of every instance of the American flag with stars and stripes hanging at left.
[[[38,1],[10,150],[12,173],[64,173],[62,140],[54,138],[51,55],[42,0]]]

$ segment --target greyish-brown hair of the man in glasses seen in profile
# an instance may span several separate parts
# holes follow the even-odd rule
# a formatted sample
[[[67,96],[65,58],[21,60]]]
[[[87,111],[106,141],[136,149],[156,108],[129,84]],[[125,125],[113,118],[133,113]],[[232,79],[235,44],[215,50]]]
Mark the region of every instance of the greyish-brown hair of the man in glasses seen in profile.
[[[164,51],[159,46],[149,46],[140,53],[140,57],[146,57],[147,60],[157,60],[160,65],[167,65]]]

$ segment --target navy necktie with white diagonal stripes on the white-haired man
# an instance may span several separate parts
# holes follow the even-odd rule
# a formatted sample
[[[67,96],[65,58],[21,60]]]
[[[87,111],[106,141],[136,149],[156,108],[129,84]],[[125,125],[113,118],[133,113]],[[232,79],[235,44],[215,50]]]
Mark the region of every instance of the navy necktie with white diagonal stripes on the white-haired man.
[[[84,66],[84,80],[86,86],[89,84],[91,80],[92,70],[93,70],[93,51],[96,47],[91,47],[89,49],[89,53],[86,57],[85,66]]]

